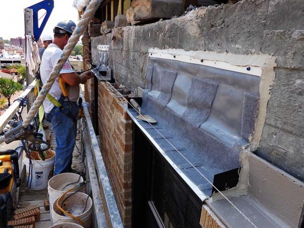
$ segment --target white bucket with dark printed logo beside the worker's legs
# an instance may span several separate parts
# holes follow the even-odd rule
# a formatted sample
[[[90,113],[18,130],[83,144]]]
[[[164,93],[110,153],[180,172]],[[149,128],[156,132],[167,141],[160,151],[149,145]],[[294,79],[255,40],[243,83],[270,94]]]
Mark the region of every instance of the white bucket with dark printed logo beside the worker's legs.
[[[29,173],[29,159],[27,156],[24,158],[24,164],[26,167],[26,181],[29,178],[27,187],[30,186],[30,188],[33,190],[46,189],[48,187],[49,179],[54,174],[55,151],[49,149],[47,154],[50,155],[49,157],[51,158],[46,159],[45,161],[34,160],[34,157],[31,159],[32,176],[31,173]],[[31,155],[33,155],[33,152],[31,152]]]

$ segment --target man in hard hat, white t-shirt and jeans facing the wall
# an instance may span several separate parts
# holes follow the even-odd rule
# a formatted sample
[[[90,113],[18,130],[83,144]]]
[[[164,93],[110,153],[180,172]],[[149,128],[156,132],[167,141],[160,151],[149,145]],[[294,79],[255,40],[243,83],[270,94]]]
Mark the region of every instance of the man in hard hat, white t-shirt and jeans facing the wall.
[[[67,45],[75,27],[76,25],[72,21],[60,21],[55,26],[54,41],[45,50],[40,65],[43,84],[46,83],[58,59],[60,59],[64,46]],[[59,78],[57,78],[43,102],[47,121],[52,123],[52,130],[56,137],[55,175],[64,172],[75,172],[75,170],[71,169],[71,164],[77,133],[79,85],[85,84],[93,75],[91,71],[82,74],[75,73],[67,60],[59,76],[68,87],[67,96],[63,95],[64,91],[61,90],[61,83]]]

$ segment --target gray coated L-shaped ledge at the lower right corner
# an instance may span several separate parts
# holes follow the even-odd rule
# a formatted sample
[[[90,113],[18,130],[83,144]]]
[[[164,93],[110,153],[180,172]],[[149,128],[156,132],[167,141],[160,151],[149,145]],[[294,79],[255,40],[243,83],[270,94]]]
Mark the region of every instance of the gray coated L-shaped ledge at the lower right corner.
[[[229,200],[250,221],[225,199],[208,206],[228,227],[300,227],[304,183],[252,153],[248,160],[248,194]]]

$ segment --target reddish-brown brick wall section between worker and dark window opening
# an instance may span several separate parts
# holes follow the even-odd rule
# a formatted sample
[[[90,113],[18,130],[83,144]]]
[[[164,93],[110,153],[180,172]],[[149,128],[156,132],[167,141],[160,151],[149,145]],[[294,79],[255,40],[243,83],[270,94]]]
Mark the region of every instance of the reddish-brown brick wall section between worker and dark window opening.
[[[125,98],[98,82],[98,127],[102,157],[125,227],[131,227],[132,124]]]

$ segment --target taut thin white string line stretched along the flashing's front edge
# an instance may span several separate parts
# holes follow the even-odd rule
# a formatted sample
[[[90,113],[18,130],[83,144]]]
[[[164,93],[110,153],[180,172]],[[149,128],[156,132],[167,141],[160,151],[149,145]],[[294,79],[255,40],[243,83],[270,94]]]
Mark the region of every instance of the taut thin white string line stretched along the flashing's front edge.
[[[90,63],[89,63],[90,64]],[[91,65],[91,64],[90,64]],[[96,71],[96,73],[98,73],[100,75],[100,77],[103,78],[104,81],[106,81],[107,83],[110,83],[109,81],[106,80],[105,77],[103,77],[103,75],[101,75],[98,71]],[[122,95],[119,91],[117,91],[116,88],[113,88],[116,90],[117,93],[119,93],[120,95]],[[122,95],[123,96],[123,95]],[[133,107],[139,114],[139,116],[141,116],[141,118],[143,118],[144,120],[146,120],[146,118],[127,100],[128,104],[130,104],[131,107]],[[165,136],[157,130],[157,128],[155,128],[151,123],[149,123],[147,120],[146,122],[153,127],[154,130],[156,130],[204,179],[207,180],[208,183],[210,183],[215,189],[216,191],[218,191],[218,193],[225,199],[227,200],[242,216],[244,216],[244,218],[246,220],[248,220],[255,228],[257,228],[257,226],[239,209],[237,208],[234,203],[232,203],[224,194],[221,193],[221,191],[219,191],[219,189],[200,171],[198,170],[188,159],[186,159],[184,157],[184,155],[182,155],[182,153],[180,153],[180,151],[174,146],[172,145],[171,142],[169,142],[169,140],[167,138],[165,138]]]

